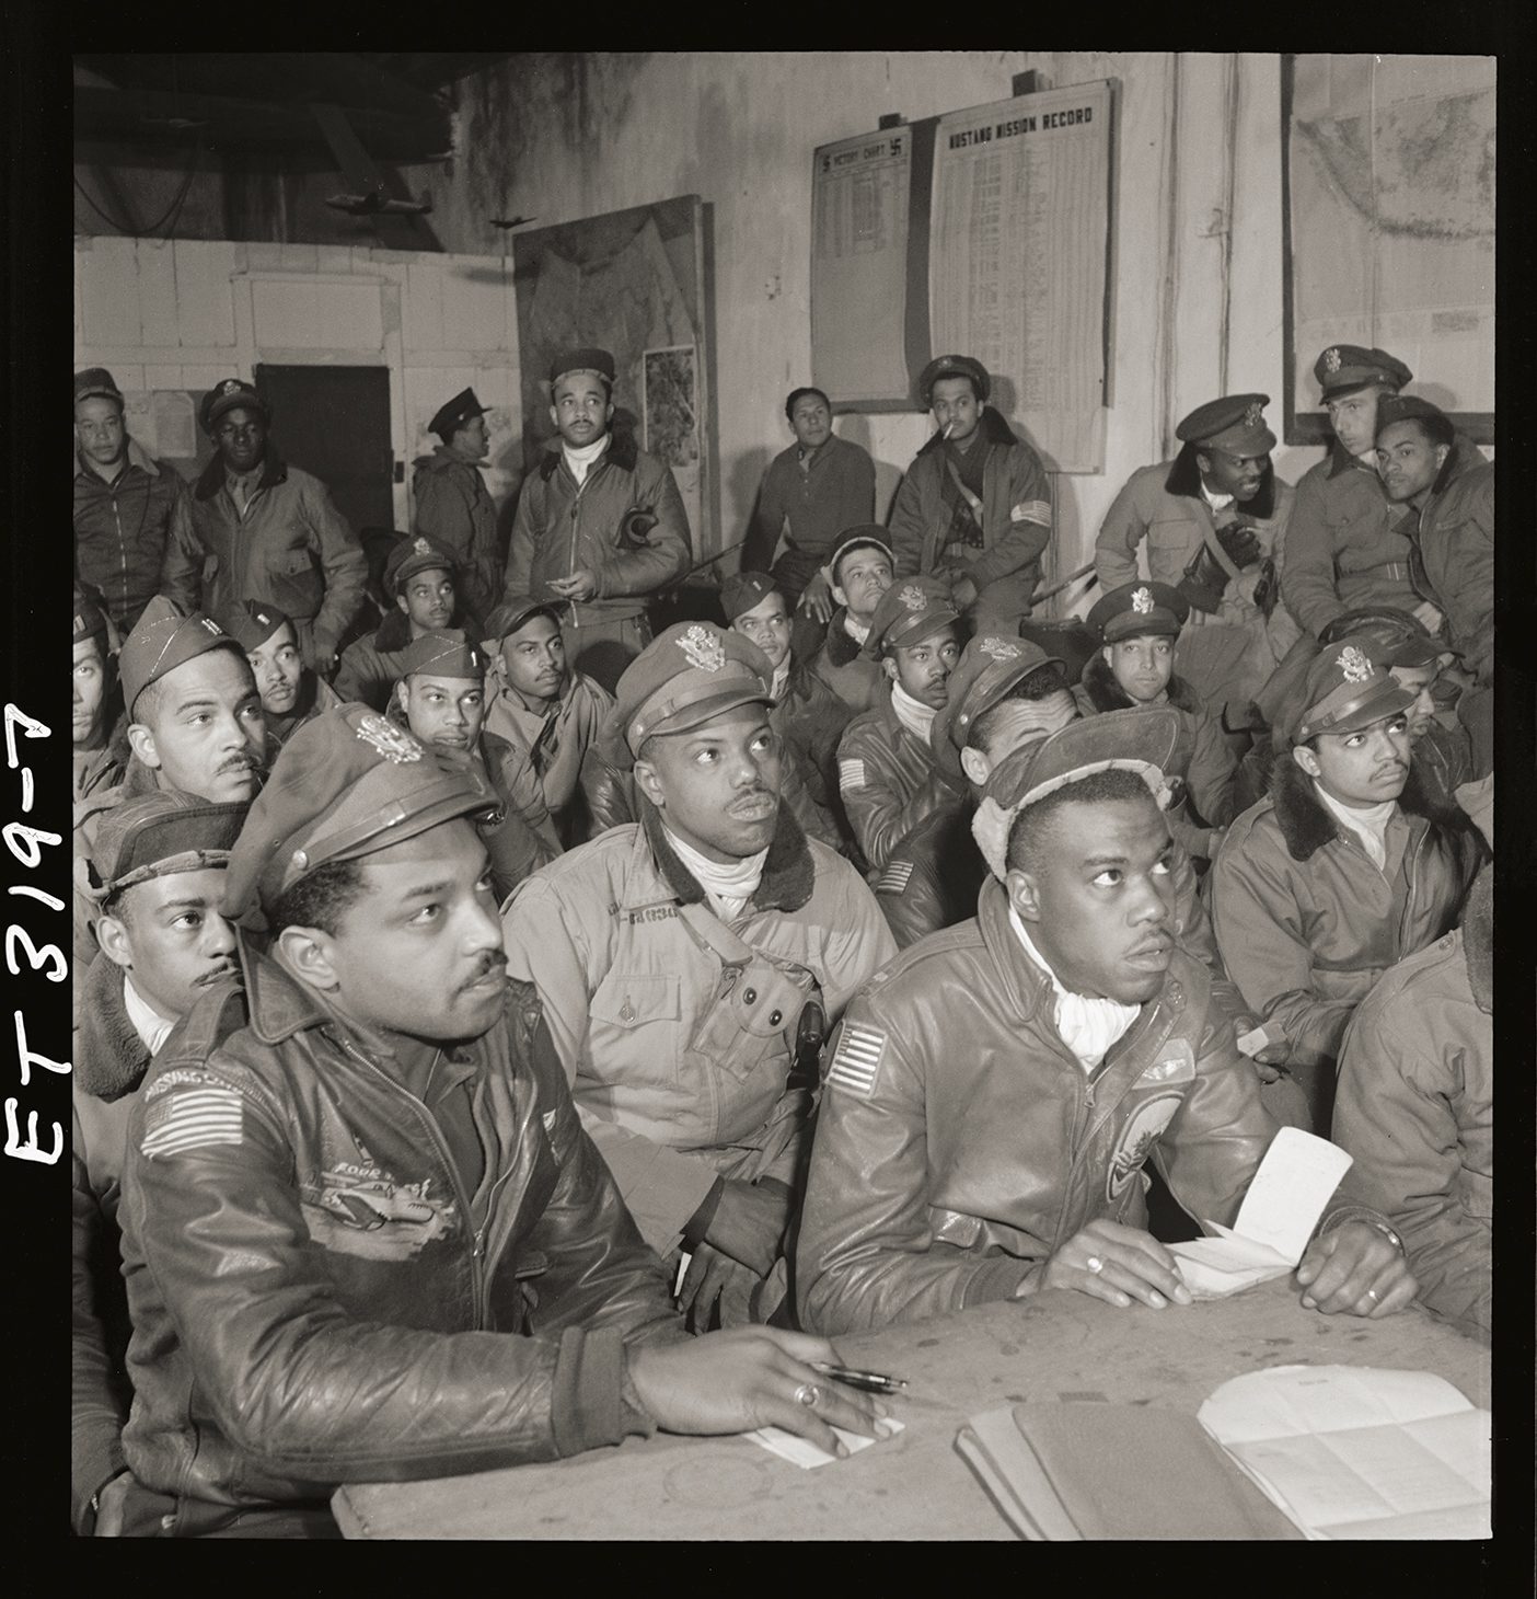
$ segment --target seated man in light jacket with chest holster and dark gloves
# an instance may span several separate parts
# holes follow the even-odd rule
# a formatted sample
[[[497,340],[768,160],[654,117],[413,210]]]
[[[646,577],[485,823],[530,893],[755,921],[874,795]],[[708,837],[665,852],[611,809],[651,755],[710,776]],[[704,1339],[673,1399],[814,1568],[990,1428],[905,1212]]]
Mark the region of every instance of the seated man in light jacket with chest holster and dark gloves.
[[[893,953],[858,873],[780,803],[768,676],[708,622],[649,644],[609,732],[639,823],[535,873],[502,918],[642,1236],[673,1270],[693,1255],[697,1329],[780,1305],[821,1039]]]

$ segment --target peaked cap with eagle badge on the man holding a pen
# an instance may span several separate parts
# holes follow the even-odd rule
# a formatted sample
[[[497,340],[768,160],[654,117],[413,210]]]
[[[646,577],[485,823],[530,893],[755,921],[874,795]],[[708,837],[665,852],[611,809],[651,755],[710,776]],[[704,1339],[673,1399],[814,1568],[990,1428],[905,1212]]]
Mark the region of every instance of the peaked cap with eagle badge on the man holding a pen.
[[[230,855],[225,915],[272,910],[331,860],[358,860],[495,804],[471,764],[439,760],[367,705],[332,705],[283,745],[251,803]]]

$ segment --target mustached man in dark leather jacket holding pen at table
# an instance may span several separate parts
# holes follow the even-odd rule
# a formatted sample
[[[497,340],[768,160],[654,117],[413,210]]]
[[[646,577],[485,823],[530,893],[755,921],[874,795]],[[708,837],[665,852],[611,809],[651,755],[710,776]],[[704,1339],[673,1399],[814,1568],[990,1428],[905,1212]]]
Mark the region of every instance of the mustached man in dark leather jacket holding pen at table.
[[[868,1402],[797,1404],[820,1340],[681,1338],[540,996],[505,975],[490,800],[342,705],[252,807],[227,897],[272,937],[243,940],[249,1023],[220,1036],[209,996],[129,1121],[134,1525],[334,1537],[359,1460],[409,1481],[657,1426],[874,1428]]]

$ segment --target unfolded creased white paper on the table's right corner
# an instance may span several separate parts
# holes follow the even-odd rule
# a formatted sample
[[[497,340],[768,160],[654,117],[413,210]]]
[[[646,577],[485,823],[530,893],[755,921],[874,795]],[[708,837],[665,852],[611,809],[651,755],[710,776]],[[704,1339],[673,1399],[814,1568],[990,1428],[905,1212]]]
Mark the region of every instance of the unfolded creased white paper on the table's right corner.
[[[1487,1538],[1487,1410],[1441,1377],[1277,1366],[1200,1422],[1309,1538]]]

